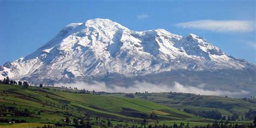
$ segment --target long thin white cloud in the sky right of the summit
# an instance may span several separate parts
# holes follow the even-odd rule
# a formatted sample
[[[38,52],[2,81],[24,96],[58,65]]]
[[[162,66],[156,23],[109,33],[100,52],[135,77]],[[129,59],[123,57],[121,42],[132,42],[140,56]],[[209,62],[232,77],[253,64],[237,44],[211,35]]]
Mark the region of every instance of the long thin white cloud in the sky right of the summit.
[[[200,20],[174,24],[181,28],[199,29],[214,32],[250,32],[255,29],[253,21],[215,21],[215,20]]]

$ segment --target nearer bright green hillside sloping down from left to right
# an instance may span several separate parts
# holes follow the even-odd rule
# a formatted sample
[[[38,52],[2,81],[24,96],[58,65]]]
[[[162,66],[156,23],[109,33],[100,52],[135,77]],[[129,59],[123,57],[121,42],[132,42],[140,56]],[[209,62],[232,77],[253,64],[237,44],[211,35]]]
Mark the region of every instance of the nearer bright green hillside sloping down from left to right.
[[[66,117],[141,123],[145,116],[147,122],[153,123],[155,120],[149,117],[152,113],[159,120],[201,120],[193,114],[143,99],[74,93],[58,87],[24,89],[19,85],[0,85],[0,107],[2,119],[50,124],[63,124]],[[15,116],[16,110],[29,116]]]

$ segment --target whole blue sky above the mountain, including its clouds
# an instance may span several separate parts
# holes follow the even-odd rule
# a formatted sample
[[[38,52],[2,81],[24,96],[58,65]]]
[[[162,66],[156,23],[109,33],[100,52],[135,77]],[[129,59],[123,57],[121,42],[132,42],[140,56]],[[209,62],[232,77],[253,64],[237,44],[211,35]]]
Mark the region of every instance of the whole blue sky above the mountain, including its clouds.
[[[0,0],[0,64],[32,53],[63,26],[109,18],[131,30],[194,33],[228,55],[256,63],[252,1],[32,1]]]

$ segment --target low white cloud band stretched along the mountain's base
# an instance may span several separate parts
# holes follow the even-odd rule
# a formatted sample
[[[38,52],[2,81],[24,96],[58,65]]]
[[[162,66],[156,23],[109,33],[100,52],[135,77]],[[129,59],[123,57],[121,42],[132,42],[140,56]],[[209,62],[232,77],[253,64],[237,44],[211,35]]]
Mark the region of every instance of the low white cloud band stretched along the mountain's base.
[[[185,86],[181,85],[177,82],[174,82],[174,85],[154,85],[146,82],[135,82],[134,85],[129,87],[117,86],[117,85],[106,85],[103,82],[92,82],[92,83],[84,83],[77,82],[73,84],[63,84],[58,83],[55,86],[65,86],[65,87],[77,87],[78,89],[86,89],[86,90],[95,90],[95,91],[104,91],[104,92],[126,92],[126,93],[134,93],[134,92],[184,92],[184,93],[196,93],[200,95],[209,95],[209,96],[239,96],[246,95],[249,92],[241,90],[239,92],[230,92],[230,91],[221,91],[221,90],[205,90],[203,87],[204,84],[199,85],[198,87],[194,86]]]

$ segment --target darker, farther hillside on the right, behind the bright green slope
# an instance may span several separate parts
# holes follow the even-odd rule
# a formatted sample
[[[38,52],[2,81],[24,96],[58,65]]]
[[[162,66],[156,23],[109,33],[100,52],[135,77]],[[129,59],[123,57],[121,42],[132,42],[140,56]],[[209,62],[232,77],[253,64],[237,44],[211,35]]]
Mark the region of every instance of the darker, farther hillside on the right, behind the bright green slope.
[[[189,93],[139,93],[137,99],[146,99],[158,104],[174,107],[179,110],[194,111],[218,110],[223,116],[238,114],[245,116],[250,109],[256,110],[256,98],[228,98],[217,96],[200,96]]]

